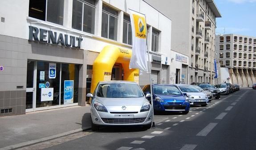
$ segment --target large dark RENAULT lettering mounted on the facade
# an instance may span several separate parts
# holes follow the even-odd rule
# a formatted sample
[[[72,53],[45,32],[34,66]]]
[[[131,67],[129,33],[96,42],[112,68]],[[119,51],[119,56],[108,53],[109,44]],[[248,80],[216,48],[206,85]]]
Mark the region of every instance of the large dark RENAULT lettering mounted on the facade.
[[[37,27],[29,26],[28,40],[40,41],[56,45],[61,44],[62,46],[81,49],[81,41],[83,41],[83,38],[68,36],[67,34],[63,36],[62,33],[57,35],[57,32],[54,32],[53,34],[53,32],[50,30],[45,30],[43,28],[38,29]]]

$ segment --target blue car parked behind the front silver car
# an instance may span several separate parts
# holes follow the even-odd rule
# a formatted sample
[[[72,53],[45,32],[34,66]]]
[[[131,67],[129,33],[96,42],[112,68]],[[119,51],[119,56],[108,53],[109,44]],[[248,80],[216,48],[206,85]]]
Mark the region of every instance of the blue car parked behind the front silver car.
[[[152,85],[155,111],[172,111],[187,114],[190,109],[186,93],[181,93],[174,85]],[[150,85],[145,85],[143,92],[150,93]]]

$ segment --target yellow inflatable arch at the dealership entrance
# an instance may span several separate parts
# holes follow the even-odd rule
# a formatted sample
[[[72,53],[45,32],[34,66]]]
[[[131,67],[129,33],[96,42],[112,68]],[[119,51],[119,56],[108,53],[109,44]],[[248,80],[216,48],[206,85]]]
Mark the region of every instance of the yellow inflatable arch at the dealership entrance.
[[[121,49],[115,46],[105,46],[102,52],[93,62],[93,77],[91,93],[94,92],[99,81],[110,81],[112,68],[115,63],[122,64],[125,81],[139,80],[139,69],[129,69],[131,50]]]

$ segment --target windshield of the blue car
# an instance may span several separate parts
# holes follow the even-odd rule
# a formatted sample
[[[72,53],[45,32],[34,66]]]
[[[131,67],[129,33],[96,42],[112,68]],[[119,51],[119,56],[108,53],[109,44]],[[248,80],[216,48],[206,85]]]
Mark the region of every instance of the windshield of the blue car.
[[[175,86],[168,85],[154,85],[153,87],[154,94],[171,94],[171,95],[180,95],[179,89]]]

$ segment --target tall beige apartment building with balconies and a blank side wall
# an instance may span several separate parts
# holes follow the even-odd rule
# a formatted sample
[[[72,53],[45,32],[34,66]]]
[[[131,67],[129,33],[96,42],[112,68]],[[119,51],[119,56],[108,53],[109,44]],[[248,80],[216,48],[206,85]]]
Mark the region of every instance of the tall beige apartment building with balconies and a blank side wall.
[[[215,19],[221,17],[214,0],[146,1],[171,18],[171,50],[189,57],[188,83],[213,83]]]

